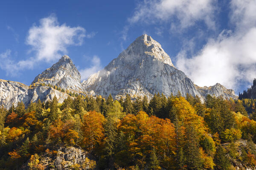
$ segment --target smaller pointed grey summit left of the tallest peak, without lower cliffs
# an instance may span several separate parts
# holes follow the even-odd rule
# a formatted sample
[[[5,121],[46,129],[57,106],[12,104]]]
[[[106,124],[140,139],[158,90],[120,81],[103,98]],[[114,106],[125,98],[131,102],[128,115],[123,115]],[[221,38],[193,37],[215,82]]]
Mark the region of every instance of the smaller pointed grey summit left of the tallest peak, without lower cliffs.
[[[67,55],[61,57],[51,68],[47,68],[35,77],[31,84],[34,83],[56,85],[73,91],[84,91],[81,85],[81,75]]]

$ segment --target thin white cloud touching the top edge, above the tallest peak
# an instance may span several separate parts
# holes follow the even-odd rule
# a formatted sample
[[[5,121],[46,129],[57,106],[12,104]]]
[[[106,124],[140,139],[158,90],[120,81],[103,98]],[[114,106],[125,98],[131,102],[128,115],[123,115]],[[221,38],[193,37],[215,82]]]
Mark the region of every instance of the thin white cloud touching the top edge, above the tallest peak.
[[[214,29],[214,3],[215,0],[144,0],[128,21],[158,23],[177,19],[179,27],[183,29],[202,20],[209,28]]]

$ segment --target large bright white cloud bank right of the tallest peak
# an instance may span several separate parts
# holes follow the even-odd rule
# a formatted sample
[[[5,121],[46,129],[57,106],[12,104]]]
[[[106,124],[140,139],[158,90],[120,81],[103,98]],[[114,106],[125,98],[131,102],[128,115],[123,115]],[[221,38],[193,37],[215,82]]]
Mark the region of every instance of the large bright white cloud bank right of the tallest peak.
[[[232,0],[234,31],[222,31],[195,56],[188,57],[183,49],[177,55],[177,68],[200,86],[219,82],[236,90],[241,81],[251,84],[256,78],[256,14],[252,8],[255,11],[256,1]]]

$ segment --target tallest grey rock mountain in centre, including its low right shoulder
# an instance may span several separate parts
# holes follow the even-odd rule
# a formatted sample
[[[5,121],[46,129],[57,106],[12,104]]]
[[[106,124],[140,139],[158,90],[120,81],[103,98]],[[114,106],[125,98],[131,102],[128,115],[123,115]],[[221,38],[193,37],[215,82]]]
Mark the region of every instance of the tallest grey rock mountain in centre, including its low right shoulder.
[[[211,87],[195,85],[182,71],[175,68],[160,43],[144,34],[138,37],[103,70],[82,82],[90,94],[116,98],[130,94],[132,97],[148,96],[160,92],[166,96],[191,94],[204,98],[207,94],[237,98],[233,90],[220,84]]]

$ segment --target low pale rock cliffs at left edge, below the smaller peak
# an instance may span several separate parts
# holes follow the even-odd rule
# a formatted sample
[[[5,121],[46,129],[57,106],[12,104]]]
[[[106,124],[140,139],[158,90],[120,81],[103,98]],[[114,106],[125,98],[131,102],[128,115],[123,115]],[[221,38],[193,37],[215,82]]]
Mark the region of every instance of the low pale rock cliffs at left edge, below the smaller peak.
[[[48,86],[27,86],[20,82],[12,82],[0,79],[0,105],[10,108],[23,102],[26,106],[29,103],[40,99],[42,102],[52,100],[56,96],[58,102],[63,102],[69,95]]]

